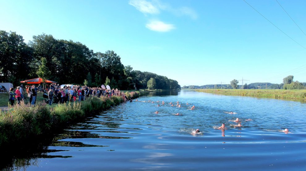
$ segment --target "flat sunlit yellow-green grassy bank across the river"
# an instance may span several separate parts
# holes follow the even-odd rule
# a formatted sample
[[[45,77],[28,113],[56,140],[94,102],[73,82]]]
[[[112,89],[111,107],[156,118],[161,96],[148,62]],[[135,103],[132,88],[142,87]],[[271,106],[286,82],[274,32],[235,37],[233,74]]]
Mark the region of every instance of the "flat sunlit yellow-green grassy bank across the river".
[[[198,92],[236,96],[270,97],[306,100],[306,90],[284,89],[195,89]]]

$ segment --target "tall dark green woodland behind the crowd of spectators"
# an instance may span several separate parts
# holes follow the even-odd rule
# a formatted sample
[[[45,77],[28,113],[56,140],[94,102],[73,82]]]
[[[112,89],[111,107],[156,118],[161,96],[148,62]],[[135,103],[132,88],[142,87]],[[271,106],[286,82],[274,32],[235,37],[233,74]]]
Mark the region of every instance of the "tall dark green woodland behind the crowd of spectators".
[[[16,32],[0,30],[0,80],[19,85],[44,77],[62,84],[110,85],[120,89],[181,89],[176,80],[124,66],[113,50],[90,50],[81,42],[52,35],[33,36],[25,43]],[[154,80],[154,84],[152,84]]]

